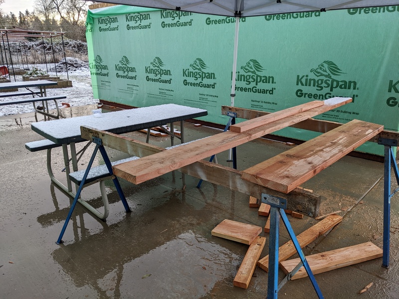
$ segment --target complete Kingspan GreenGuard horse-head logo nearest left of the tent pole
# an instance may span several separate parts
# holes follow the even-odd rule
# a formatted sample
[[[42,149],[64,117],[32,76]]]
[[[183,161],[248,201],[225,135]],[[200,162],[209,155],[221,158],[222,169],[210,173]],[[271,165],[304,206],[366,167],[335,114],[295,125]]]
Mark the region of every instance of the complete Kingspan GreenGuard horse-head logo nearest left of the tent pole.
[[[190,64],[190,68],[183,69],[183,77],[191,78],[194,81],[200,82],[193,82],[187,79],[183,80],[183,84],[185,86],[192,86],[192,87],[201,87],[201,88],[212,88],[214,89],[216,86],[216,82],[207,82],[204,83],[204,80],[216,80],[215,73],[205,72],[204,69],[208,68],[206,63],[201,59],[197,58],[194,60],[193,63]]]

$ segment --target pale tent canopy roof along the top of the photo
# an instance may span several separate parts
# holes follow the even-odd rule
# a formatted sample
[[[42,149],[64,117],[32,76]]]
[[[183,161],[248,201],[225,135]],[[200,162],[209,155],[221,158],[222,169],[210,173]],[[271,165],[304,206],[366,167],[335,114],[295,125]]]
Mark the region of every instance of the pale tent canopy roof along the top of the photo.
[[[399,0],[100,0],[99,2],[232,17],[399,5]]]

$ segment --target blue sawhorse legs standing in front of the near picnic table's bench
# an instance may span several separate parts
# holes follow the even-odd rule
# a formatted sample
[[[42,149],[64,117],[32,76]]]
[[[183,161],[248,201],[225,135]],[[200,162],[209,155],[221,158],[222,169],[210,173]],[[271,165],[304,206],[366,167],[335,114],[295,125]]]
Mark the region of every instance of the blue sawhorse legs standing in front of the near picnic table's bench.
[[[87,175],[89,174],[90,168],[91,168],[91,166],[93,164],[94,158],[95,158],[98,150],[100,150],[101,155],[103,156],[104,162],[107,165],[107,168],[108,168],[108,171],[109,171],[109,175],[112,176],[112,180],[113,180],[113,182],[115,184],[116,190],[118,191],[119,197],[121,198],[121,201],[123,203],[123,206],[125,207],[126,212],[127,213],[131,212],[129,204],[126,201],[125,194],[123,194],[121,185],[119,184],[118,178],[116,176],[114,176],[114,174],[113,174],[111,161],[109,160],[109,157],[107,155],[107,152],[104,149],[104,146],[102,145],[102,140],[100,138],[93,137],[92,138],[92,142],[96,144],[96,148],[94,149],[93,154],[91,155],[89,164],[87,165],[87,169],[86,169],[86,171],[85,171],[85,173],[83,175],[83,179],[80,182],[78,190],[76,191],[76,195],[75,195],[75,198],[73,199],[72,205],[71,205],[71,207],[69,209],[68,216],[66,217],[64,226],[62,227],[61,233],[59,234],[58,240],[56,242],[57,244],[62,243],[62,237],[63,237],[63,235],[65,233],[66,227],[68,226],[68,222],[71,219],[72,212],[75,209],[76,203],[78,201],[80,193],[82,192],[83,186],[84,186],[84,184],[86,182]]]

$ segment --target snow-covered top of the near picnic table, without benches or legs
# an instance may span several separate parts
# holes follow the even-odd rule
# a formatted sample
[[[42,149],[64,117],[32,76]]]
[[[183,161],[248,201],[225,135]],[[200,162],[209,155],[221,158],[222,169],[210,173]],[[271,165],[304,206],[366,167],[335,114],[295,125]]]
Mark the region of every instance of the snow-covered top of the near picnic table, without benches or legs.
[[[32,124],[32,130],[57,144],[84,141],[80,126],[123,134],[165,125],[170,122],[205,116],[206,110],[176,104],[164,104]]]

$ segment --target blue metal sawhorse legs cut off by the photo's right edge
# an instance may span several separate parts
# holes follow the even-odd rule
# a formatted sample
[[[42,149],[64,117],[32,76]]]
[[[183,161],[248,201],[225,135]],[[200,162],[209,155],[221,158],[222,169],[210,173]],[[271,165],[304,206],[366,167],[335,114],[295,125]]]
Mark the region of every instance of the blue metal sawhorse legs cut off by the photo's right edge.
[[[391,198],[399,191],[397,187],[391,193],[391,168],[394,168],[397,183],[399,185],[399,170],[395,160],[393,147],[398,146],[398,140],[380,138],[379,145],[385,147],[384,154],[384,235],[383,235],[383,267],[389,268],[390,263],[390,227],[391,227]]]

